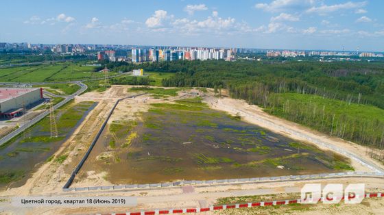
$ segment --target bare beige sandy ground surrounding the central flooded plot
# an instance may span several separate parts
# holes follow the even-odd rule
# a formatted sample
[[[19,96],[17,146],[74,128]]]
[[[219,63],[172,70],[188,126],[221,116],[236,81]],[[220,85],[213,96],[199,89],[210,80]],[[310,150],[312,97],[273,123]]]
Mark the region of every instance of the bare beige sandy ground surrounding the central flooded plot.
[[[108,212],[125,212],[130,210],[132,212],[141,211],[141,210],[154,210],[154,209],[167,209],[167,208],[182,208],[182,207],[207,207],[216,202],[217,198],[220,197],[233,197],[233,196],[244,196],[244,195],[263,195],[263,194],[279,194],[279,193],[291,193],[298,192],[304,183],[365,183],[367,190],[373,191],[384,191],[384,180],[375,179],[375,178],[348,178],[348,179],[322,179],[322,180],[313,180],[313,181],[285,181],[285,182],[268,182],[261,184],[228,184],[228,185],[217,185],[217,186],[195,186],[194,192],[192,193],[183,193],[182,188],[155,188],[150,190],[103,190],[97,192],[62,192],[62,186],[65,184],[69,178],[69,174],[75,165],[77,165],[80,157],[84,155],[88,145],[91,143],[91,140],[94,138],[99,127],[101,127],[104,118],[108,114],[110,108],[112,108],[113,103],[117,99],[122,97],[127,97],[129,93],[127,92],[128,86],[112,86],[106,92],[87,92],[82,94],[79,97],[75,98],[75,102],[81,101],[98,101],[98,105],[92,110],[88,116],[86,116],[83,123],[75,130],[73,136],[69,138],[66,142],[62,144],[62,147],[55,153],[55,156],[62,154],[68,154],[67,160],[63,164],[58,164],[57,162],[47,162],[36,170],[36,173],[27,180],[24,186],[19,188],[12,188],[10,190],[5,190],[0,192],[0,197],[7,199],[8,197],[14,196],[27,196],[27,195],[59,195],[59,196],[133,196],[138,198],[138,205],[136,207],[110,207],[110,208],[99,208],[99,207],[73,207],[69,208],[58,208],[58,207],[49,207],[49,208],[34,208],[34,209],[22,209],[14,208],[10,206],[9,203],[0,201],[0,214],[5,212],[10,212],[10,214],[89,214],[89,213],[108,213]],[[121,118],[134,118],[136,117],[134,113],[142,112],[147,110],[147,104],[152,102],[168,102],[178,97],[165,99],[151,99],[147,95],[135,99],[127,99],[121,102],[117,106],[115,114],[112,114],[110,122],[119,120]],[[326,142],[335,144],[338,147],[343,147],[348,149],[361,157],[364,157],[367,160],[371,160],[370,157],[365,155],[365,147],[361,147],[357,144],[346,142],[338,138],[332,138],[320,134],[311,129],[307,129],[296,123],[291,123],[274,116],[270,116],[263,112],[256,105],[248,105],[244,101],[236,99],[217,99],[213,97],[211,93],[206,94],[204,97],[205,101],[216,110],[222,110],[229,112],[230,114],[237,114],[233,112],[233,107],[243,110],[244,112],[250,112],[254,116],[266,118],[269,121],[278,123],[279,125],[285,125],[292,129],[300,129],[300,131],[306,132],[309,135],[316,136],[317,138],[322,138]],[[287,134],[283,131],[278,131],[273,127],[267,125],[262,125],[259,121],[252,121],[252,118],[243,118],[243,120],[248,121],[249,123],[254,123],[261,127],[265,127],[274,132],[278,132],[289,138],[295,138],[300,140],[300,138],[293,136],[292,134]],[[378,162],[376,164],[380,165]],[[357,168],[357,170],[367,170],[359,164],[352,164]],[[86,179],[82,181],[77,181],[73,186],[99,186],[99,185],[108,185],[109,182],[105,181],[103,178],[104,173],[95,173],[90,171],[87,173]],[[369,209],[365,208],[368,207]],[[352,211],[350,214],[366,214],[372,212],[375,214],[381,210],[384,210],[383,200],[370,201],[365,203],[365,207],[359,205],[356,206],[356,210]],[[309,212],[314,212],[315,214],[326,213],[335,213],[344,212],[344,206],[341,210],[333,210],[333,208],[328,206],[319,206],[319,208],[311,209]],[[3,210],[1,210],[3,208]],[[348,210],[347,210],[348,211]],[[222,213],[228,214],[228,211],[223,211]],[[309,213],[308,212],[308,213]],[[260,212],[259,212],[260,213]],[[261,213],[266,213],[261,211]],[[271,212],[273,213],[273,212]],[[301,212],[300,212],[301,213]],[[306,212],[303,212],[306,213]],[[209,214],[209,213],[204,213]],[[232,214],[232,213],[231,213]],[[254,212],[250,212],[254,214]],[[269,214],[269,212],[267,212]],[[276,213],[275,213],[276,214]],[[376,213],[377,214],[377,213]]]

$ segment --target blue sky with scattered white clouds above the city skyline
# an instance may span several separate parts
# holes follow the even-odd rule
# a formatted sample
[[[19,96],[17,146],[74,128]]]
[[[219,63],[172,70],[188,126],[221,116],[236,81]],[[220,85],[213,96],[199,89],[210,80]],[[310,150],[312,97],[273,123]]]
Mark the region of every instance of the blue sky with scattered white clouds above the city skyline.
[[[0,42],[384,51],[382,0],[2,0]]]

